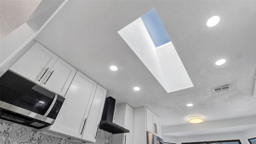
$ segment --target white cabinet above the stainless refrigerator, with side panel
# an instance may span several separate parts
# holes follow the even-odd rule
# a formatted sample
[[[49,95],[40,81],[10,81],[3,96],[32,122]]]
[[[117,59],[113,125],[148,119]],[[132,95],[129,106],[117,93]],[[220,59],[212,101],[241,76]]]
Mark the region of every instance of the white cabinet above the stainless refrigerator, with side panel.
[[[133,144],[147,144],[147,131],[162,138],[160,118],[146,107],[134,108]]]

